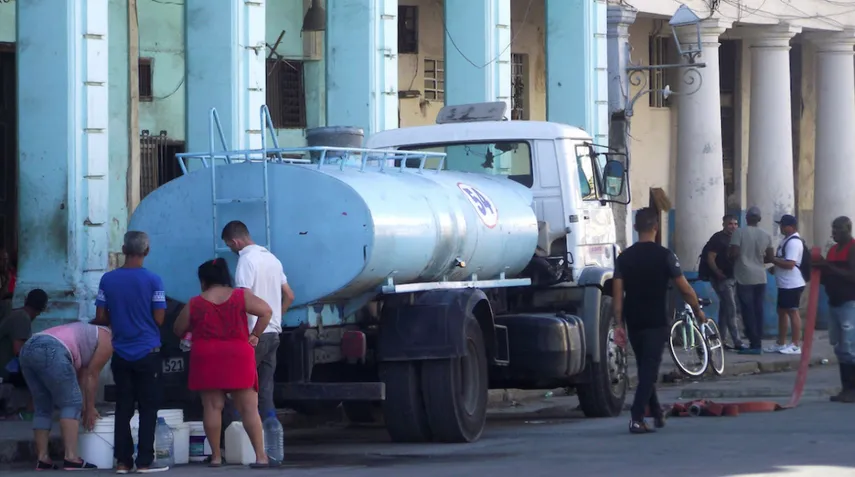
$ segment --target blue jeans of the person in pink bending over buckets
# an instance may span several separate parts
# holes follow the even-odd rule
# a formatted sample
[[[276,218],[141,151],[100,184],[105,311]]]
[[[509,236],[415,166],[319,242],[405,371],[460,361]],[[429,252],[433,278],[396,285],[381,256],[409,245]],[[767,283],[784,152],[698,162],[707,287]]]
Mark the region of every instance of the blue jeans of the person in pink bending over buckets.
[[[33,429],[50,430],[53,409],[60,419],[80,420],[83,394],[71,353],[56,338],[36,335],[21,348],[21,371],[33,395]]]

